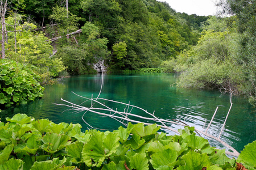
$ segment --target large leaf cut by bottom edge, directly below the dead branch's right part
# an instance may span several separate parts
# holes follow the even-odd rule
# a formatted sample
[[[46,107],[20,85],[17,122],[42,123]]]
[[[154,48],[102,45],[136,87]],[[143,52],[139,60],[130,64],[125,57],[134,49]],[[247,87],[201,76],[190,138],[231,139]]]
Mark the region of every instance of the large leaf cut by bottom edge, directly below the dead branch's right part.
[[[187,154],[181,156],[181,159],[185,161],[185,165],[179,166],[177,170],[197,170],[204,167],[210,167],[211,165],[206,153],[199,154],[195,151],[189,151]]]

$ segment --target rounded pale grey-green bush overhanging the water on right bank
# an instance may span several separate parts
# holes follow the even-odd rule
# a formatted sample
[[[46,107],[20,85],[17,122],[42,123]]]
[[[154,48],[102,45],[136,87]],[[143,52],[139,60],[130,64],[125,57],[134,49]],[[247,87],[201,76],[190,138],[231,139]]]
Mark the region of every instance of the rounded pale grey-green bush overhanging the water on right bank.
[[[245,79],[242,69],[225,61],[218,63],[214,59],[201,61],[189,67],[180,75],[180,87],[220,89],[238,93]]]

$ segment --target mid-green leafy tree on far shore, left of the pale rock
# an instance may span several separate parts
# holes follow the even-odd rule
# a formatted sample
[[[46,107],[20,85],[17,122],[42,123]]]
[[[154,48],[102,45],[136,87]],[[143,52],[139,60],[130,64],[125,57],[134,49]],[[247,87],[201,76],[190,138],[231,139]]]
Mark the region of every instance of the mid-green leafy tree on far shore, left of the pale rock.
[[[56,56],[61,58],[70,74],[94,73],[93,64],[109,56],[108,39],[100,38],[98,27],[86,22],[79,45],[63,45]]]

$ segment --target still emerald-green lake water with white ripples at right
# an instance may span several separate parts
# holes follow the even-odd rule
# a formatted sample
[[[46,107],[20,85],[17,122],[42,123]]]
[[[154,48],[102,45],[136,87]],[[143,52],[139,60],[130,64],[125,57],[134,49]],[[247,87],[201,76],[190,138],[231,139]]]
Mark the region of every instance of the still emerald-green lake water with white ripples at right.
[[[185,121],[189,126],[195,126],[200,130],[203,130],[205,119],[207,119],[205,126],[208,126],[216,107],[219,107],[208,130],[209,134],[216,137],[219,135],[230,107],[230,95],[221,94],[220,91],[176,88],[177,76],[175,74],[95,74],[72,76],[52,86],[45,86],[46,90],[44,90],[42,99],[3,110],[0,113],[1,120],[5,121],[5,117],[12,117],[16,113],[26,113],[35,118],[48,118],[57,124],[59,122],[79,123],[85,130],[89,126],[81,119],[84,112],[65,111],[67,107],[53,103],[64,104],[61,98],[76,104],[85,101],[74,95],[72,91],[85,97],[92,95],[97,97],[102,76],[103,87],[100,97],[123,103],[130,102],[148,112],[155,111],[155,116],[159,118]],[[255,108],[251,107],[242,96],[233,95],[232,102],[233,107],[221,139],[240,152],[247,143],[256,140],[256,112]],[[116,106],[109,105],[109,107],[115,108]],[[146,116],[140,112],[136,114]],[[111,118],[98,117],[92,113],[86,113],[84,118],[94,128],[117,129],[121,125]],[[170,127],[176,130],[181,128],[172,124]],[[174,134],[171,131],[165,132],[170,135]],[[222,148],[218,142],[212,139],[209,141],[210,145]]]

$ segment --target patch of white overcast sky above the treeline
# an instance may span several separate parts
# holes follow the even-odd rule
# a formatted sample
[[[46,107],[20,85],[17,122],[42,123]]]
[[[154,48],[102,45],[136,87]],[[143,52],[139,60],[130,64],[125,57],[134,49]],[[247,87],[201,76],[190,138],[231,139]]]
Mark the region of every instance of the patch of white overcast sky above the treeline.
[[[188,15],[216,15],[216,0],[157,0],[167,2],[176,12],[185,12]]]

